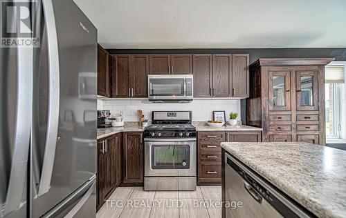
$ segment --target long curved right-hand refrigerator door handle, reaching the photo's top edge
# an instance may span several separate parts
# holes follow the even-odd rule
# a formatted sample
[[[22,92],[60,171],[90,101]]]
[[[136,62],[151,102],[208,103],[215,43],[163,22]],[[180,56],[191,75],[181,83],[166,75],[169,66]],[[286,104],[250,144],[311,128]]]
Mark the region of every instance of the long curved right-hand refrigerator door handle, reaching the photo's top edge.
[[[60,110],[60,64],[53,2],[52,0],[42,1],[42,5],[47,28],[49,90],[46,145],[37,192],[38,196],[44,195],[51,187]]]

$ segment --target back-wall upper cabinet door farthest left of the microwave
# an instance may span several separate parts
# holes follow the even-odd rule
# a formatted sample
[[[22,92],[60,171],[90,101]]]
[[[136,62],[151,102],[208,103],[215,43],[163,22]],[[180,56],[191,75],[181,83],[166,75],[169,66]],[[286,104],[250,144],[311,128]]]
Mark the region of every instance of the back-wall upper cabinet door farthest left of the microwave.
[[[131,55],[113,55],[112,97],[131,97]]]

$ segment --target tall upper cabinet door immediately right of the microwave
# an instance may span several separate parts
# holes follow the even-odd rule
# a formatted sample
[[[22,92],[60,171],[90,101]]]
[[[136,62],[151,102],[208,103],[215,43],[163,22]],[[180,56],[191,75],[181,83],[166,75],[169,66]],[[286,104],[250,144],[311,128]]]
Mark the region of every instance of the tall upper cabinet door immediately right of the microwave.
[[[212,54],[193,55],[194,97],[212,97]]]

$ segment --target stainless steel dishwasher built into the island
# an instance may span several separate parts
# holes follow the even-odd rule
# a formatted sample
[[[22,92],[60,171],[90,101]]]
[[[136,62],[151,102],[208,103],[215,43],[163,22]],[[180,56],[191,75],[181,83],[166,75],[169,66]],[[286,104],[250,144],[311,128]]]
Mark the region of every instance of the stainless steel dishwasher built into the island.
[[[313,217],[251,169],[225,153],[226,217]],[[225,204],[226,205],[226,204]]]

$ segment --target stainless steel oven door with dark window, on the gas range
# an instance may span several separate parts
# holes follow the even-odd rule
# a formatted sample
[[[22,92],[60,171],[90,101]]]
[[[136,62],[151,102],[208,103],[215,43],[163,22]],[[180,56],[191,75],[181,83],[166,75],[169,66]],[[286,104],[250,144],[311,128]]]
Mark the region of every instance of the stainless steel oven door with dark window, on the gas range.
[[[196,141],[145,141],[144,154],[146,177],[197,175]]]

